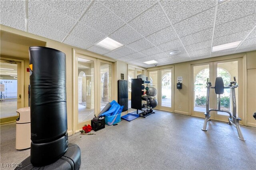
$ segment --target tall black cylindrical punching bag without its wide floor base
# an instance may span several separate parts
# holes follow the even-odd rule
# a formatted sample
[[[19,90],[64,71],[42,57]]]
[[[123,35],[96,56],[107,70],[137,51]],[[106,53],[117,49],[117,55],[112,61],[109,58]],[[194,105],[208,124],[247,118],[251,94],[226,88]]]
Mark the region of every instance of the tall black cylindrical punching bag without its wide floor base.
[[[67,150],[66,55],[30,47],[30,161],[46,166]]]

